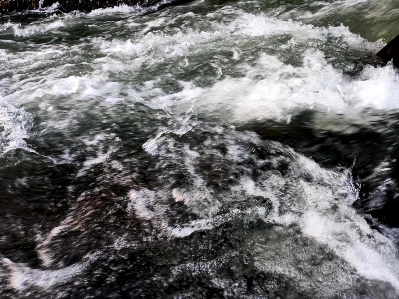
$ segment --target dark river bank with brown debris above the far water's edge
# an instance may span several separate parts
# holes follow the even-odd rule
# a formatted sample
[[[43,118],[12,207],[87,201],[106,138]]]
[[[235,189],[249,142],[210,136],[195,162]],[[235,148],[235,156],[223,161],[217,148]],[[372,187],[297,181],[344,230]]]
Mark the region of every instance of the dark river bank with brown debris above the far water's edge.
[[[120,5],[157,6],[157,9],[161,9],[165,6],[188,2],[188,0],[0,0],[0,14],[45,9],[56,2],[59,4],[57,10],[60,12],[71,12],[73,10],[89,12],[97,8]]]

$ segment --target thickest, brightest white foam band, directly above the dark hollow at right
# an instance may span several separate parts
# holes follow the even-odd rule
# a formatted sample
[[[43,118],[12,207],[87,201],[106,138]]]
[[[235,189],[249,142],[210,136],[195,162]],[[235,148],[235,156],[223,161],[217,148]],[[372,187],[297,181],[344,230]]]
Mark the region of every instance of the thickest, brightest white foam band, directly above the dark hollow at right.
[[[212,87],[200,89],[184,83],[183,90],[161,96],[160,101],[191,102],[197,109],[211,113],[229,110],[228,120],[289,117],[293,108],[315,106],[337,113],[353,113],[352,108],[399,108],[395,92],[399,75],[392,65],[366,67],[354,79],[328,64],[321,51],[304,54],[303,67],[292,67],[277,57],[263,55],[256,68],[249,68],[243,78],[226,78]],[[263,74],[264,79],[258,79]]]

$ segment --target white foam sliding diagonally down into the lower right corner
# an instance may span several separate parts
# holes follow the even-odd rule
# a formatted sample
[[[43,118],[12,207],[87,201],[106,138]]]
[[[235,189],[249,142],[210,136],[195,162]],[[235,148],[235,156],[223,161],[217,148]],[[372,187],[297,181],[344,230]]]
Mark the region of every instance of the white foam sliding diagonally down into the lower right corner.
[[[279,175],[268,176],[267,182],[257,187],[249,180],[241,184],[249,193],[272,199],[273,210],[265,221],[298,225],[305,236],[328,245],[359,275],[390,283],[399,293],[398,250],[350,206],[358,198],[350,173],[323,169],[301,155],[294,161],[292,174],[308,176],[310,182],[294,179],[291,184],[295,187],[284,189],[284,193],[279,189],[287,182]],[[319,179],[322,184],[314,184]],[[339,200],[337,193],[345,194],[346,200]],[[284,263],[281,267],[279,271]]]

